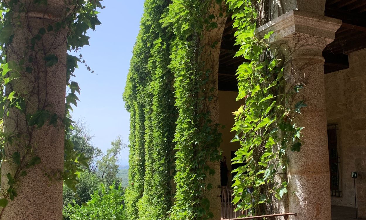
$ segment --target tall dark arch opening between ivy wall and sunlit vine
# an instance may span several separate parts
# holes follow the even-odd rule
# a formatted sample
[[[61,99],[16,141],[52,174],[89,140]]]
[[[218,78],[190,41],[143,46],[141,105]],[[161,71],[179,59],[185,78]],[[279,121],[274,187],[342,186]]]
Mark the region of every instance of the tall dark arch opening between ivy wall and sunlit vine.
[[[223,125],[220,129],[223,135],[220,150],[222,151],[223,157],[226,158],[225,162],[221,162],[221,166],[227,166],[227,170],[229,171],[229,173],[226,173],[225,168],[220,168],[221,187],[223,187],[221,192],[221,219],[231,219],[241,215],[240,212],[234,211],[236,208],[235,205],[230,205],[232,199],[234,199],[231,185],[232,178],[235,175],[231,173],[231,170],[239,166],[239,164],[231,164],[231,159],[235,157],[235,152],[240,148],[239,142],[231,143],[231,140],[235,136],[235,133],[231,132],[231,128],[235,123],[232,112],[237,111],[241,105],[240,102],[236,101],[236,97],[238,96],[238,80],[235,73],[239,65],[247,60],[242,56],[234,57],[235,53],[239,51],[240,46],[235,45],[236,37],[234,34],[237,29],[232,27],[233,23],[234,21],[229,15],[223,30],[219,57],[219,115],[220,125]]]

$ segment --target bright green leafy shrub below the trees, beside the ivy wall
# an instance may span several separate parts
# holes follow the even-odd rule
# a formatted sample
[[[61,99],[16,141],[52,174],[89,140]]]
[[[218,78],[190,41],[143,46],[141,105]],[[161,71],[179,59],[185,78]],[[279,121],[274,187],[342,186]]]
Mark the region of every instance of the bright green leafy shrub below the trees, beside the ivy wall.
[[[91,200],[86,205],[64,208],[64,216],[69,220],[126,220],[124,205],[124,190],[121,185],[118,188],[102,186],[100,191],[95,191]]]

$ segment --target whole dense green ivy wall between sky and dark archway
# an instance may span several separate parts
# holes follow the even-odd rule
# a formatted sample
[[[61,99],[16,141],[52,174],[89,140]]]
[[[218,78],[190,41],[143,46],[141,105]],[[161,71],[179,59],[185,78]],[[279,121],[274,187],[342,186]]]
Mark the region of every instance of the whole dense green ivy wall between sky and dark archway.
[[[204,108],[212,97],[200,54],[203,31],[217,26],[207,13],[214,2],[145,2],[123,95],[131,118],[129,220],[212,216],[205,179],[220,134]]]

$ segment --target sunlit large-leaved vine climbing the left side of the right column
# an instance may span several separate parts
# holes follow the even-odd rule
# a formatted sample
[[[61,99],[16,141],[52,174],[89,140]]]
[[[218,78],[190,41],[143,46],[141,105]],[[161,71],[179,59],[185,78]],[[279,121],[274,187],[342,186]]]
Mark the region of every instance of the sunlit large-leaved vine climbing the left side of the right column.
[[[238,209],[258,215],[273,212],[276,199],[287,193],[287,154],[300,151],[302,127],[296,126],[296,115],[306,107],[301,97],[304,81],[296,81],[291,89],[285,84],[285,57],[276,48],[270,48],[268,39],[273,32],[259,37],[258,26],[266,22],[261,14],[265,1],[227,0],[233,12],[236,44],[240,45],[235,56],[247,59],[239,66],[239,94],[242,106],[235,111],[236,136],[240,142],[233,164],[244,164],[233,170],[235,199]],[[291,77],[289,74],[288,77]],[[297,95],[299,94],[299,95]],[[272,205],[272,206],[271,206]]]

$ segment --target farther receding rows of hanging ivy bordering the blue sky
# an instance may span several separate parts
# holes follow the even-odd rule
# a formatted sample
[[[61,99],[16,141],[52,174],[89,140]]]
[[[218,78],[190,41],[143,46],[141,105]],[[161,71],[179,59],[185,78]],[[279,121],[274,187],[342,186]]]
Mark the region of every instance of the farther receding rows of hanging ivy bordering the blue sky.
[[[175,128],[172,73],[168,69],[171,37],[160,24],[168,4],[145,2],[123,96],[131,118],[130,185],[126,189],[131,220],[167,219],[171,207]]]

